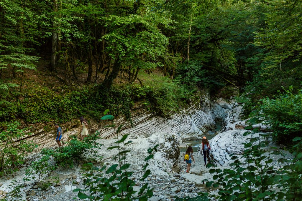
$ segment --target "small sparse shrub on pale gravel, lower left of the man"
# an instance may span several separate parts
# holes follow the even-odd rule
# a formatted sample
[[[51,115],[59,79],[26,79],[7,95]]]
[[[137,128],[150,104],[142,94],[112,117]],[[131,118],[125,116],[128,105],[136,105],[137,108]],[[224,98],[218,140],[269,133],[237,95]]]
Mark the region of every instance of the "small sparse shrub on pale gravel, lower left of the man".
[[[39,183],[44,174],[51,173],[51,171],[55,170],[56,166],[51,165],[48,162],[49,159],[49,155],[43,155],[38,161],[32,162],[31,166],[26,170],[26,177],[23,178],[23,181],[31,181],[32,179],[36,179],[37,176],[37,183]]]

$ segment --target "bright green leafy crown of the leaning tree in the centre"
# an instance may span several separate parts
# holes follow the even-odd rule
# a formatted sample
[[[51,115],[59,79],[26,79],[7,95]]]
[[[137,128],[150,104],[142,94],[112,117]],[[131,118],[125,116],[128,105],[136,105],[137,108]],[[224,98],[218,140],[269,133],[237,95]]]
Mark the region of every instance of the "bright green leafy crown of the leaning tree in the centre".
[[[134,1],[129,3],[127,6],[130,7]],[[108,42],[109,56],[119,57],[123,64],[131,65],[133,68],[155,68],[159,63],[156,58],[165,52],[168,45],[168,39],[157,26],[168,25],[169,20],[156,15],[151,5],[149,7],[147,4],[137,10],[133,9],[132,12],[124,16],[104,17],[105,26],[111,30],[103,36]],[[129,29],[132,31],[129,32]]]

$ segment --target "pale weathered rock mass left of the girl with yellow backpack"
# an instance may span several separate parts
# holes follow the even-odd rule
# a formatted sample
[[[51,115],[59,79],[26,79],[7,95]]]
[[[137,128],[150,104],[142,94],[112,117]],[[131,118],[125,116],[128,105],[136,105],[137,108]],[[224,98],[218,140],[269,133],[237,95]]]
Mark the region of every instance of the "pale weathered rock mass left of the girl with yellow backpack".
[[[121,137],[119,135],[119,137]],[[107,148],[110,146],[116,146],[114,142],[116,139],[101,140],[102,146],[99,149],[98,154],[104,156],[103,161],[106,165],[117,164],[118,160],[114,158],[118,154],[117,149],[112,149],[108,152]],[[170,133],[153,133],[149,137],[137,136],[136,134],[130,134],[126,141],[132,141],[125,149],[130,150],[127,153],[127,163],[131,164],[131,169],[141,170],[146,164],[144,159],[149,155],[147,150],[153,148],[156,144],[159,144],[158,151],[154,153],[154,158],[148,161],[150,169],[153,174],[167,175],[171,173],[171,170],[178,172],[178,156],[179,141],[176,135]]]

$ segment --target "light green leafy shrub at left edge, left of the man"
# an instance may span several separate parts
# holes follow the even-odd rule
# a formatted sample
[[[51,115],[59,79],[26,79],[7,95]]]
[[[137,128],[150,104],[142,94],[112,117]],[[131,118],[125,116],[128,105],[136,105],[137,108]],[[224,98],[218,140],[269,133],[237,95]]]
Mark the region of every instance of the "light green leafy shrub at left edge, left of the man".
[[[26,128],[19,129],[20,123],[5,123],[4,129],[0,133],[0,140],[3,142],[0,148],[0,177],[4,174],[11,174],[18,170],[19,166],[24,163],[24,157],[27,153],[33,151],[34,143],[22,140],[29,133],[25,133]]]

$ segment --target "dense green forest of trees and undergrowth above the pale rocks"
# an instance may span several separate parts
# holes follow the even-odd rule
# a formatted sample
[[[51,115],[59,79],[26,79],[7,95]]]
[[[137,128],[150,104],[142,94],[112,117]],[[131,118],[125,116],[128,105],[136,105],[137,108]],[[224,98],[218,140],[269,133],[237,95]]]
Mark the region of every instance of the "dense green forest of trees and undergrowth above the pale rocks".
[[[227,98],[231,86],[246,116],[300,121],[282,100],[301,101],[301,11],[281,0],[3,0],[0,120],[99,119],[109,108],[131,121],[131,108],[169,115],[199,90]],[[286,111],[271,111],[276,98]]]

